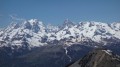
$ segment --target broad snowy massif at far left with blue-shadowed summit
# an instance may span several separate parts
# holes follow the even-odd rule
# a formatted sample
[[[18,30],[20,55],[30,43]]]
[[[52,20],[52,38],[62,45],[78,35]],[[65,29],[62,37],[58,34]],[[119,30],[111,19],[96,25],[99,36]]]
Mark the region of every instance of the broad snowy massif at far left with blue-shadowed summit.
[[[28,43],[29,46],[39,46],[39,41],[45,34],[45,27],[42,22],[31,19],[24,21],[22,24],[10,24],[10,26],[0,32],[0,41],[18,46],[22,46],[23,42]]]

